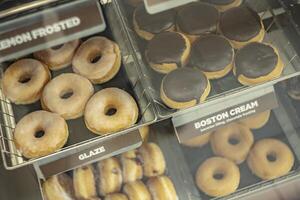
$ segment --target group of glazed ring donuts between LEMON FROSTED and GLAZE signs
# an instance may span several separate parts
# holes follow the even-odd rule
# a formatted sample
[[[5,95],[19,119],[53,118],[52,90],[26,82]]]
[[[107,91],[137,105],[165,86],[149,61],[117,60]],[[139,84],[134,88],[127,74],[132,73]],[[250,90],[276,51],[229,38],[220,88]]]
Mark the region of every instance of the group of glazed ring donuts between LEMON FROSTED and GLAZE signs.
[[[26,158],[37,158],[62,148],[68,139],[66,120],[84,117],[98,135],[126,129],[136,123],[135,99],[119,88],[94,94],[94,85],[116,76],[121,67],[119,46],[106,37],[75,40],[33,54],[11,64],[2,79],[4,95],[14,104],[40,100],[43,110],[24,116],[14,130],[17,148]],[[74,73],[59,73],[72,66]],[[51,79],[51,71],[60,75]],[[57,74],[57,73],[56,73]]]

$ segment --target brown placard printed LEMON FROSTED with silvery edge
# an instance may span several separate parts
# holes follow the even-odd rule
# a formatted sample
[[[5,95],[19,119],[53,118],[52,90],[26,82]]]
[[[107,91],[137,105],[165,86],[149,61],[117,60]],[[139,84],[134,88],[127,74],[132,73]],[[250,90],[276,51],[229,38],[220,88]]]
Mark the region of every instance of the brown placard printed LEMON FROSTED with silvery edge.
[[[105,29],[97,0],[72,1],[0,24],[0,62]]]

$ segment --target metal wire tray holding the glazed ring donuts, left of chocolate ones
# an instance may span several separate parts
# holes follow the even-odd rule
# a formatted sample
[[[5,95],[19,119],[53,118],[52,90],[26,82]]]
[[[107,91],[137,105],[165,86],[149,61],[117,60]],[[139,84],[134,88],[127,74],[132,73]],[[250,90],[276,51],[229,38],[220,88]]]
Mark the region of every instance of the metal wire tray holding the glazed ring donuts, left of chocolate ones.
[[[106,11],[107,18],[116,18],[116,12],[113,9],[107,9]],[[101,33],[100,35],[111,38],[119,44],[122,52],[123,65],[121,67],[121,70],[113,80],[105,84],[95,85],[95,90],[98,91],[102,88],[107,87],[118,87],[124,89],[125,91],[133,95],[133,97],[135,98],[136,102],[139,105],[140,115],[138,122],[134,126],[130,127],[127,130],[114,133],[112,135],[126,134],[127,132],[134,131],[143,125],[151,124],[156,120],[156,116],[154,115],[154,107],[150,101],[149,94],[142,87],[141,75],[138,71],[138,67],[133,62],[133,60],[130,59],[131,53],[127,48],[127,41],[124,38],[124,32],[120,31],[118,28],[120,26],[119,23],[120,21],[114,20],[114,24],[112,24],[111,27],[108,27],[106,31]],[[31,55],[27,57],[30,56]],[[9,64],[10,62],[2,63],[3,69],[5,69]],[[63,72],[71,71],[71,67],[68,67],[58,72],[52,72],[52,75],[57,76],[58,74],[61,74]],[[3,95],[2,90],[0,90],[0,109],[0,146],[6,169],[16,169],[40,161],[43,161],[44,163],[45,160],[57,160],[68,155],[72,155],[75,152],[79,152],[82,149],[86,149],[91,145],[95,145],[97,141],[101,142],[111,137],[111,135],[97,136],[91,133],[86,128],[83,118],[69,120],[67,121],[67,123],[69,126],[70,135],[65,147],[63,147],[60,151],[55,152],[54,154],[42,158],[27,160],[21,156],[21,154],[18,152],[17,148],[14,145],[13,130],[20,118],[32,111],[41,109],[40,103],[38,102],[26,106],[14,105],[13,103],[9,102],[9,100]]]

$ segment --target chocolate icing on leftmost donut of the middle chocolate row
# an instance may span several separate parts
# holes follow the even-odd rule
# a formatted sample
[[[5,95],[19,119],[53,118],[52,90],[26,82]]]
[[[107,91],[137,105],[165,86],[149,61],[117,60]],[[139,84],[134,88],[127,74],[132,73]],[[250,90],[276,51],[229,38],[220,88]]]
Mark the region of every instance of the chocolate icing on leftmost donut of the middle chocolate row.
[[[149,41],[146,55],[151,63],[176,63],[180,66],[186,48],[186,41],[181,34],[165,32],[157,34]]]

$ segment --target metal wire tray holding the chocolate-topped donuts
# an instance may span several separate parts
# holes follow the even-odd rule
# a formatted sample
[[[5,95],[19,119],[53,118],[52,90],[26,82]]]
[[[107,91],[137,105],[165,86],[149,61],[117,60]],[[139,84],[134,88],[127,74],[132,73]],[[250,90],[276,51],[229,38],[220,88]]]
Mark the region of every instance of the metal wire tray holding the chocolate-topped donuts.
[[[164,75],[152,70],[144,58],[147,41],[141,39],[133,29],[132,22],[134,8],[128,6],[123,1],[115,1],[113,3],[114,6],[120,10],[121,15],[124,16],[123,21],[127,34],[129,35],[133,49],[136,52],[135,59],[142,69],[145,88],[149,91],[152,100],[155,102],[159,118],[165,119],[198,109],[199,105],[186,110],[174,110],[163,104],[160,99],[160,86]],[[284,72],[280,78],[252,87],[268,87],[274,85],[276,82],[300,74],[300,58],[297,54],[297,52],[300,52],[298,47],[299,39],[295,29],[289,21],[290,18],[287,16],[286,11],[282,7],[278,7],[276,1],[275,5],[274,1],[272,2],[268,0],[246,0],[245,3],[260,14],[267,33],[264,42],[271,43],[273,46],[277,47],[279,49],[280,56],[285,63]],[[245,94],[248,89],[252,88],[242,86],[238,83],[232,73],[222,79],[211,81],[211,84],[212,91],[206,102],[220,99],[224,96],[231,96],[234,93],[244,92]]]

